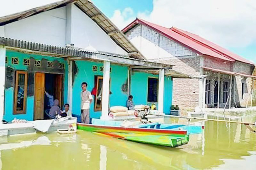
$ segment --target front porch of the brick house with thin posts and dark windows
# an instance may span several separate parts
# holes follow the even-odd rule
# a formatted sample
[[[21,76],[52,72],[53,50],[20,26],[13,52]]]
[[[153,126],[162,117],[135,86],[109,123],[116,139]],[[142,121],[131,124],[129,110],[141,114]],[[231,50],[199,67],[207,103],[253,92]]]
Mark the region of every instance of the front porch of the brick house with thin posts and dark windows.
[[[253,106],[255,76],[209,67],[205,69],[206,108],[247,108]]]

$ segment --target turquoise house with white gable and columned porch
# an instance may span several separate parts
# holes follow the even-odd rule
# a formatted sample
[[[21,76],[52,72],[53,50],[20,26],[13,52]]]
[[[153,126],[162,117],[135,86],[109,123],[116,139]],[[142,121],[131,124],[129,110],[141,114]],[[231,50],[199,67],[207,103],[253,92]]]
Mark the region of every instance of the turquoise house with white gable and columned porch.
[[[90,1],[63,0],[0,18],[3,119],[46,119],[54,99],[80,119],[81,83],[94,90],[91,118],[109,107],[155,103],[169,113],[171,64],[148,61]],[[5,73],[5,74],[3,74]]]

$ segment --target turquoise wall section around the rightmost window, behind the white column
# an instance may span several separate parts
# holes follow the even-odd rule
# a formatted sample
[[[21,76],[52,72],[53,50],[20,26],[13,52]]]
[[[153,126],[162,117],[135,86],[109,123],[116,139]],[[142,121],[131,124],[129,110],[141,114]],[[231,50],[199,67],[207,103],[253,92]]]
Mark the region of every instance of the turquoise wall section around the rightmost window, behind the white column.
[[[149,73],[134,72],[131,76],[131,95],[135,105],[151,105],[157,102],[147,102],[148,96],[148,78],[158,78],[158,75]],[[172,105],[172,78],[165,76],[164,84],[164,113],[170,114]]]

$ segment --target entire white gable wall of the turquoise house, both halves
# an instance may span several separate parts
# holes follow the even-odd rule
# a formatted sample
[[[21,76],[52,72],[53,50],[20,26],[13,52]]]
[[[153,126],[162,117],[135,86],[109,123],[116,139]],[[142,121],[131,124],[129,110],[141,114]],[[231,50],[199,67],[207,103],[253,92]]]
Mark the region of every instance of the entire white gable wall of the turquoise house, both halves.
[[[74,44],[74,47],[87,50],[127,55],[125,50],[74,4],[6,24],[0,27],[0,35],[60,47]]]

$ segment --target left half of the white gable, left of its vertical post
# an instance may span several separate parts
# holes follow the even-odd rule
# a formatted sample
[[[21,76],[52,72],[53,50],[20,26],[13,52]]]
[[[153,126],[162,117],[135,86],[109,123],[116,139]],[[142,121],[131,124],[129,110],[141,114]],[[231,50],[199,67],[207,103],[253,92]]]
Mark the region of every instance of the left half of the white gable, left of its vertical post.
[[[66,7],[52,9],[6,24],[5,37],[64,47]]]

